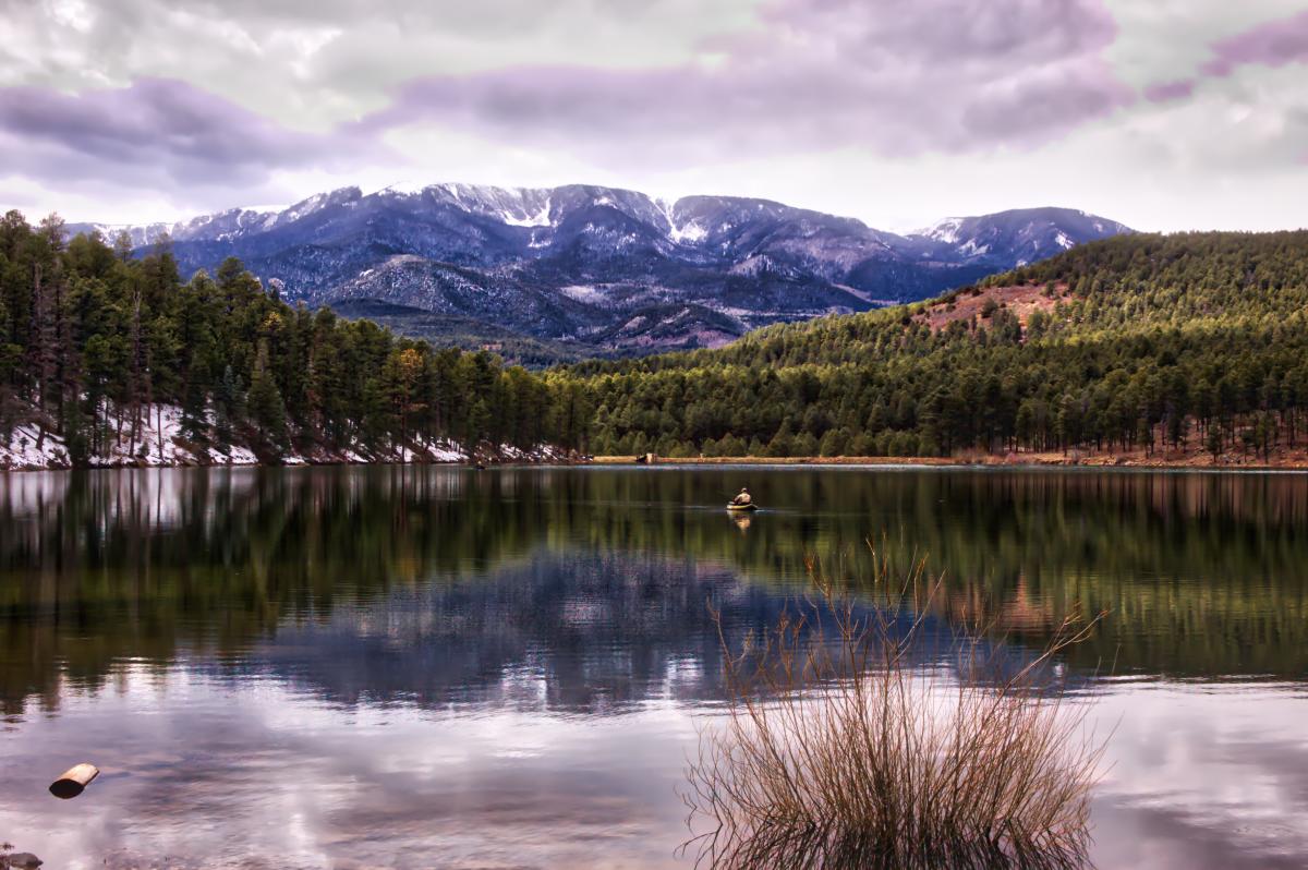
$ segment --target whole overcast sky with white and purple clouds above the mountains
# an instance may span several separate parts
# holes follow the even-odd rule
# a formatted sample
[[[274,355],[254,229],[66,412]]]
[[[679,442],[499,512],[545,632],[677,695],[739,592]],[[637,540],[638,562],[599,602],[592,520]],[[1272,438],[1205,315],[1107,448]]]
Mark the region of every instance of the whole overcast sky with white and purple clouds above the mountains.
[[[1308,0],[0,0],[0,208],[738,194],[1308,225]]]

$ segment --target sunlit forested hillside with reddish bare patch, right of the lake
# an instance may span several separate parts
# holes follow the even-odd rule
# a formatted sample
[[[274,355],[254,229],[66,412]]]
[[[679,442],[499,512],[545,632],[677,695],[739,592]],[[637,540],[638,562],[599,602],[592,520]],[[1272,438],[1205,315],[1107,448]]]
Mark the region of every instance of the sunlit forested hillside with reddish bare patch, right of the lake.
[[[1308,426],[1308,232],[1125,235],[934,302],[586,362],[591,449],[1269,458]]]

